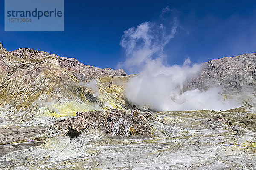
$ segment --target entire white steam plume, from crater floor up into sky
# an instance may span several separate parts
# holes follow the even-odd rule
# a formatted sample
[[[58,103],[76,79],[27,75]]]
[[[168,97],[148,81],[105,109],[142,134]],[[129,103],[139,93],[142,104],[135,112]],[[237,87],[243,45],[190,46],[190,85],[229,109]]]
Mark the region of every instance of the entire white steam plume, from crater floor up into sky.
[[[162,15],[172,11],[168,9],[164,9]],[[181,94],[184,83],[200,70],[201,65],[192,64],[189,58],[183,65],[165,64],[168,56],[164,54],[164,48],[175,38],[177,28],[178,20],[173,17],[169,23],[145,22],[124,31],[120,45],[125,49],[126,60],[119,66],[128,68],[130,72],[139,72],[126,86],[125,96],[128,100],[141,108],[158,111],[238,107],[234,100],[224,101],[221,89],[217,87]]]

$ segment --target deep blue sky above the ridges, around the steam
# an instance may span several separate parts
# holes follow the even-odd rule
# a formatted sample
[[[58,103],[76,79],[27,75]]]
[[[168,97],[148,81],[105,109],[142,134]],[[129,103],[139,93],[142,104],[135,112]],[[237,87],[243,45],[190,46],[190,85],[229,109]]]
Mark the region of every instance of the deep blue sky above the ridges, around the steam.
[[[3,0],[0,10],[4,11]],[[28,47],[100,68],[125,61],[123,31],[159,20],[166,6],[180,27],[165,46],[168,63],[182,64],[256,52],[256,2],[218,0],[65,0],[64,32],[5,32],[0,16],[0,42],[12,51]]]

